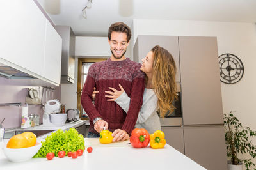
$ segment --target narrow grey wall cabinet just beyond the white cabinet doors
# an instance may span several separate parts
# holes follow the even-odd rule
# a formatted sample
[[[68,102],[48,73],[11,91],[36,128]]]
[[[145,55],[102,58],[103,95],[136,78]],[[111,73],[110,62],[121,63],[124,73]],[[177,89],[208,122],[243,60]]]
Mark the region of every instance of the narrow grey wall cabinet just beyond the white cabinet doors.
[[[74,83],[76,37],[70,26],[54,26],[62,38],[61,84]]]

